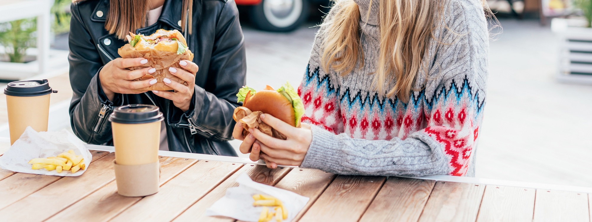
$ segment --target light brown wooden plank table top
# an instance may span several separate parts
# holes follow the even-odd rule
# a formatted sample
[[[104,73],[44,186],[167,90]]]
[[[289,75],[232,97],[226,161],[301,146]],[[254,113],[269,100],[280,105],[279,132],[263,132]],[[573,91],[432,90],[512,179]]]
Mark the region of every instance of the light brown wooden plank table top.
[[[316,169],[160,157],[160,191],[117,194],[114,153],[91,151],[81,176],[0,169],[2,221],[236,221],[205,210],[253,181],[310,197],[294,221],[590,221],[584,192],[468,184],[384,176],[343,176]],[[69,219],[69,220],[66,220]]]

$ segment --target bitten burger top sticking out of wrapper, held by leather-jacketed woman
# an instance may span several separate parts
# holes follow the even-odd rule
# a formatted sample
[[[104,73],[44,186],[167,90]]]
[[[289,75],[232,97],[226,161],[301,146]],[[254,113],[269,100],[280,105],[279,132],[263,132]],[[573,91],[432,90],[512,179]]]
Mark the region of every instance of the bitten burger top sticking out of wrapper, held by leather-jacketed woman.
[[[156,33],[150,36],[143,34],[130,33],[127,40],[136,50],[154,49],[161,52],[173,52],[177,54],[185,53],[187,42],[178,30],[156,30]]]

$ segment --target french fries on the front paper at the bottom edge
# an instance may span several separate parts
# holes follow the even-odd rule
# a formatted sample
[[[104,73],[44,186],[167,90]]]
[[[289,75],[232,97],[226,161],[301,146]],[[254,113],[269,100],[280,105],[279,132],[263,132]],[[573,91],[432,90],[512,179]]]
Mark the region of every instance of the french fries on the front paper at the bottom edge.
[[[253,195],[253,206],[259,207],[263,206],[263,210],[259,215],[259,222],[268,222],[274,219],[277,222],[284,221],[288,218],[288,211],[284,208],[284,204],[282,201],[278,200],[278,198],[263,195],[263,194],[255,194]],[[269,210],[269,207],[273,207],[273,211]]]

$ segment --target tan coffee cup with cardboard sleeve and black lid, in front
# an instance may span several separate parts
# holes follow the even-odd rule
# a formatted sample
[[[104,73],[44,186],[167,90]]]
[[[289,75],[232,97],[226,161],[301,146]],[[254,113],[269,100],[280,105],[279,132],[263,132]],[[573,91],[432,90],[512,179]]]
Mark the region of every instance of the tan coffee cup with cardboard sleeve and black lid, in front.
[[[115,146],[117,192],[144,197],[159,189],[160,121],[155,105],[132,104],[115,108],[109,116]]]

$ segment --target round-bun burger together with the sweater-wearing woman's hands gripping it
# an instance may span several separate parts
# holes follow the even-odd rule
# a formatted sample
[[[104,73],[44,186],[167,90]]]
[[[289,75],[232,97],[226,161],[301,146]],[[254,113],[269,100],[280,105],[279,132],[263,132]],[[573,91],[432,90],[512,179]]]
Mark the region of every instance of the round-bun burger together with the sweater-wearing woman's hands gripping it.
[[[243,140],[240,152],[251,153],[253,161],[262,157],[269,168],[300,166],[312,133],[308,124],[300,123],[304,105],[294,88],[287,83],[278,90],[267,86],[256,92],[244,86],[237,96],[243,107],[234,110],[233,136]]]

